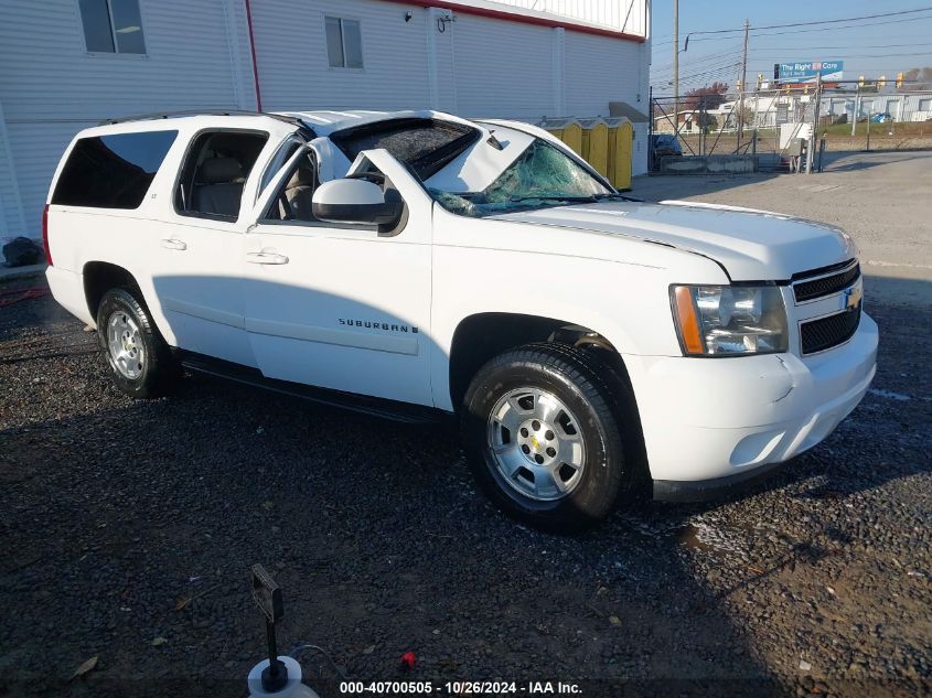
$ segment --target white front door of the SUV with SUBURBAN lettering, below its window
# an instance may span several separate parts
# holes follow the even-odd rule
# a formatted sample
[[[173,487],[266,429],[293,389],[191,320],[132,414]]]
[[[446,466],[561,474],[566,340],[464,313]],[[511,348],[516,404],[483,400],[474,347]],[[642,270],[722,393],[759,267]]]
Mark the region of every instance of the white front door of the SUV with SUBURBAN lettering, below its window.
[[[430,200],[397,164],[378,163],[409,211],[393,237],[297,221],[247,233],[245,322],[265,376],[432,405]]]

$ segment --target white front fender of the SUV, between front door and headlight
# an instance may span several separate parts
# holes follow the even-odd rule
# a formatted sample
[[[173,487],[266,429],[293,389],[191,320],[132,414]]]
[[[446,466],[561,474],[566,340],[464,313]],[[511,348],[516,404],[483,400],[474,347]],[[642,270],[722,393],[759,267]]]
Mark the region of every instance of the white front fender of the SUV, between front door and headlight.
[[[463,319],[479,313],[582,325],[623,355],[682,355],[669,308],[674,282],[724,283],[727,278],[715,262],[665,246],[617,237],[593,240],[585,232],[464,218],[435,207],[435,405],[452,407],[453,335]]]

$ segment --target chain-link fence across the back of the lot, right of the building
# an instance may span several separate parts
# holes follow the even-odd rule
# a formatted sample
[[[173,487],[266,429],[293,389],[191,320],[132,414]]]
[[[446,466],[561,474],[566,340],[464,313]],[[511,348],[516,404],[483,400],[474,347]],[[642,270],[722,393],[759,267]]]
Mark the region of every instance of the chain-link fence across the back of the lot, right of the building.
[[[813,86],[652,97],[651,117],[652,171],[800,172],[810,149],[817,169],[824,151],[932,148],[932,92]]]

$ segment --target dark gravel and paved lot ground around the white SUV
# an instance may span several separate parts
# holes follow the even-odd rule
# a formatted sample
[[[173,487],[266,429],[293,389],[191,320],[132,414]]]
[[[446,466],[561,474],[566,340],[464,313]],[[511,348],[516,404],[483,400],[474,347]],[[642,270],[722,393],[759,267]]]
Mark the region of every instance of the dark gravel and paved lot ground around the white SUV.
[[[354,679],[929,694],[930,162],[636,183],[846,225],[880,364],[837,432],[752,494],[642,503],[576,538],[501,517],[446,428],[194,377],[131,402],[50,298],[0,308],[0,695],[245,695],[257,561],[285,589],[280,645]],[[304,669],[339,695],[324,662]]]

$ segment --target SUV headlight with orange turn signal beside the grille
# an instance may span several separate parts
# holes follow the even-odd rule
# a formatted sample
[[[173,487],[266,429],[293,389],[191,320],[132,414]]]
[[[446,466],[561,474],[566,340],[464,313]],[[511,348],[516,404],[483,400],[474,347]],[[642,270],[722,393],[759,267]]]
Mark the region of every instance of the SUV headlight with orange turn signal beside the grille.
[[[786,351],[786,308],[775,286],[674,286],[671,303],[684,354]]]

